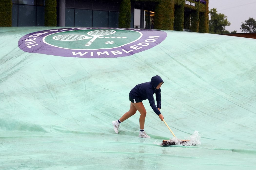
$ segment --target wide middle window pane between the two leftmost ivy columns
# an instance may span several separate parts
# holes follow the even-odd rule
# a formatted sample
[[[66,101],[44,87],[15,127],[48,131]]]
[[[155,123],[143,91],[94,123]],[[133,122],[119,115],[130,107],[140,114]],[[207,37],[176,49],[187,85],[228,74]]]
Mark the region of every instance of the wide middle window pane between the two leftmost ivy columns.
[[[19,27],[34,27],[36,26],[36,6],[19,5],[18,10],[18,26]]]

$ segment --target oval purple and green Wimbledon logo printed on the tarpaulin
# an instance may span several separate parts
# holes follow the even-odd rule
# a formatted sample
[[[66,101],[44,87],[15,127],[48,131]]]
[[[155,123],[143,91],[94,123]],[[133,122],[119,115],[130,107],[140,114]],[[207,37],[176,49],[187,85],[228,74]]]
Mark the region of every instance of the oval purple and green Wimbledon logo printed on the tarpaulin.
[[[113,58],[130,56],[160,44],[167,33],[123,28],[63,28],[33,32],[18,46],[28,53],[63,57]]]

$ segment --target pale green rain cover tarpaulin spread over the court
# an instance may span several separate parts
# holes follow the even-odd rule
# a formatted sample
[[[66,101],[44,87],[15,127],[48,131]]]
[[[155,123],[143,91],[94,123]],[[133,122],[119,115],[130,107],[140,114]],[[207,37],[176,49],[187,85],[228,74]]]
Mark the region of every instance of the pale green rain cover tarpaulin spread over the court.
[[[0,28],[0,169],[255,169],[256,40],[164,30]],[[164,120],[129,92],[159,75]]]

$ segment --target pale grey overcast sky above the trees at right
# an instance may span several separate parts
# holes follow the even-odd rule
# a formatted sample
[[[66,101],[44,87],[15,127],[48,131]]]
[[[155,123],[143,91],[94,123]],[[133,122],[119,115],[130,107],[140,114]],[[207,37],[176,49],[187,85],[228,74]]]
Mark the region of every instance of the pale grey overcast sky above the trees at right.
[[[212,8],[216,8],[218,14],[227,16],[231,23],[226,27],[229,32],[236,30],[237,33],[241,33],[241,22],[249,18],[256,20],[256,0],[209,0],[209,10]]]

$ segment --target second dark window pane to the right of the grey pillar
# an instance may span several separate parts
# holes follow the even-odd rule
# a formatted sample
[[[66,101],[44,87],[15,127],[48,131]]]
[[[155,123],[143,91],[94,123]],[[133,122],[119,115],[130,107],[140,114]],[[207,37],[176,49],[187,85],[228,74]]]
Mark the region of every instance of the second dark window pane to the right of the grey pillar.
[[[75,27],[92,27],[92,10],[75,9]]]

